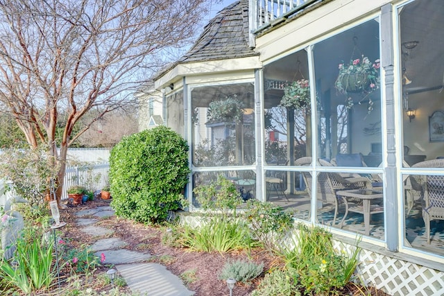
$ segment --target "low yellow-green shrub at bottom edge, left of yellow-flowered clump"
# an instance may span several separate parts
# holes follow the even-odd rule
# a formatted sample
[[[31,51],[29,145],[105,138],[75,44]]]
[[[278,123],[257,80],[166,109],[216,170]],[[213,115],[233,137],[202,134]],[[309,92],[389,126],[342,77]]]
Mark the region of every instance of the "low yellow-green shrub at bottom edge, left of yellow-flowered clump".
[[[251,296],[300,296],[296,270],[274,270],[267,273]]]

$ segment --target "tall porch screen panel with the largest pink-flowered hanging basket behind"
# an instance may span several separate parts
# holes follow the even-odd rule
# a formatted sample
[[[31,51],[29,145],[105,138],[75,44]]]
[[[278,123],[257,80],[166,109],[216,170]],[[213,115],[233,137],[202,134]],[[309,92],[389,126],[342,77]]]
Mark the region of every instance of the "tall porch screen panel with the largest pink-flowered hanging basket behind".
[[[314,46],[317,220],[384,239],[379,22]],[[338,169],[337,167],[341,167]],[[328,170],[332,170],[331,172]]]

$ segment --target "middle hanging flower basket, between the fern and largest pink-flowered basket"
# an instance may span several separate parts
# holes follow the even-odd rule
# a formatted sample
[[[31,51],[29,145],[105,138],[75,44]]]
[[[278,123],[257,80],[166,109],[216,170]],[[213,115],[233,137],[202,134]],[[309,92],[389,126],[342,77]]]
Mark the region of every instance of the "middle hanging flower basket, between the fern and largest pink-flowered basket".
[[[300,79],[284,87],[284,96],[280,100],[280,106],[301,110],[310,106],[310,99],[309,80]]]

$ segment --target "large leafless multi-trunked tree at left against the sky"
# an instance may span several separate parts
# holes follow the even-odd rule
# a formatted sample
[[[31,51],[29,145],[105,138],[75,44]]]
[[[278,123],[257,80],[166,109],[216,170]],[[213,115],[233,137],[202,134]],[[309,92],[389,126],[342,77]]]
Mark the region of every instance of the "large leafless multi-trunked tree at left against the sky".
[[[69,145],[103,114],[135,107],[135,89],[195,35],[205,8],[205,0],[0,1],[0,107],[31,148],[43,143],[57,156],[59,185]],[[74,129],[92,108],[102,111]]]

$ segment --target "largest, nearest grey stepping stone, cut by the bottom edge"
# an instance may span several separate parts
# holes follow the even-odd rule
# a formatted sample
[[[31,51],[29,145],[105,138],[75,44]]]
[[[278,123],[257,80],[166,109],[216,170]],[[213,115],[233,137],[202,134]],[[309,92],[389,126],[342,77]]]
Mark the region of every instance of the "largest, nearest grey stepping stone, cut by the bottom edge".
[[[125,279],[133,293],[149,296],[189,296],[194,295],[182,281],[163,265],[139,263],[116,265],[115,268]]]

